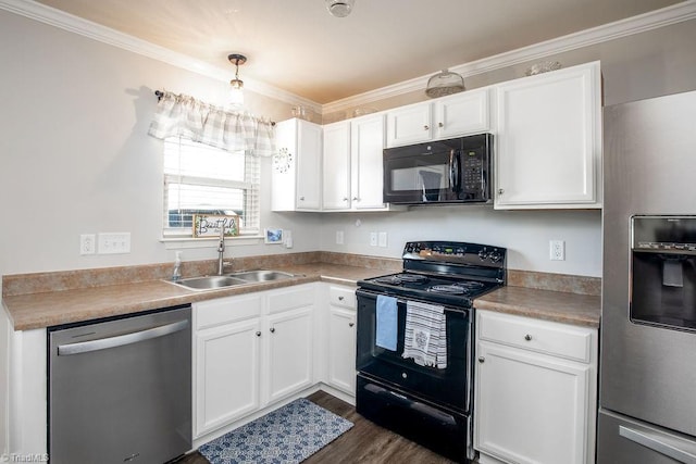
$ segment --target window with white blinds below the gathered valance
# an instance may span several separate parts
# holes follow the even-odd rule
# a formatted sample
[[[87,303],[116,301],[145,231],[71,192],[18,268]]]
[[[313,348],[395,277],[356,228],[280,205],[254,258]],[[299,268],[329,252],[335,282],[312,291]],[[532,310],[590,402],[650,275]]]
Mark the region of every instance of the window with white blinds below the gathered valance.
[[[166,138],[164,238],[191,237],[194,214],[238,214],[240,234],[259,234],[259,184],[258,156]]]

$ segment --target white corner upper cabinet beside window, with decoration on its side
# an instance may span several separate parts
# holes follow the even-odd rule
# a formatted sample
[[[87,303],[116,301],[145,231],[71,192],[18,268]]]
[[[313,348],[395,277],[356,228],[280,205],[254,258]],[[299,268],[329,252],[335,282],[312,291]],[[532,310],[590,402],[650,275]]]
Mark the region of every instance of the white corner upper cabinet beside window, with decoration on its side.
[[[273,211],[320,211],[322,126],[293,118],[277,123],[271,176]]]

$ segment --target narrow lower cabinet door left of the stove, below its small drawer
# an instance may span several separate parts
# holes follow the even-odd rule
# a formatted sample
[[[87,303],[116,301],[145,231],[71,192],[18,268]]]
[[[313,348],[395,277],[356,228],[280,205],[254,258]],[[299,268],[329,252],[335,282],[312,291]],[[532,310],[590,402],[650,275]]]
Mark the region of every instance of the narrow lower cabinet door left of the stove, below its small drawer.
[[[331,306],[328,383],[356,394],[356,311]]]

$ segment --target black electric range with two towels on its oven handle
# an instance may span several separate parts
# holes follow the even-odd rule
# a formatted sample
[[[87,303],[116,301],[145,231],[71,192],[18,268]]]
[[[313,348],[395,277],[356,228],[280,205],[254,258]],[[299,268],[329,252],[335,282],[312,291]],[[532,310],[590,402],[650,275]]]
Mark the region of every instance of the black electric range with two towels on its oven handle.
[[[458,462],[474,457],[472,302],[505,285],[506,253],[477,243],[407,242],[401,273],[358,283],[359,414]],[[380,299],[396,303],[387,330],[395,340],[386,348],[380,341]],[[439,334],[426,335],[443,349],[433,365],[405,358],[420,336],[412,308],[423,305],[442,309],[444,318]]]

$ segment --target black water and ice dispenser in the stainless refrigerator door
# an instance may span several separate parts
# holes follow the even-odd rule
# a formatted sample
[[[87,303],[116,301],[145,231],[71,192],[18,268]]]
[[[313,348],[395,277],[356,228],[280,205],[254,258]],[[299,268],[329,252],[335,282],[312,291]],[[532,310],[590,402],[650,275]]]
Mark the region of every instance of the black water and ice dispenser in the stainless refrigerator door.
[[[631,218],[631,321],[696,330],[696,216]]]

